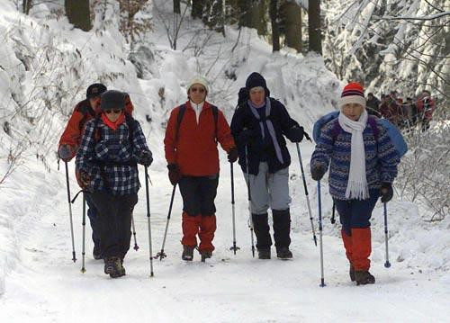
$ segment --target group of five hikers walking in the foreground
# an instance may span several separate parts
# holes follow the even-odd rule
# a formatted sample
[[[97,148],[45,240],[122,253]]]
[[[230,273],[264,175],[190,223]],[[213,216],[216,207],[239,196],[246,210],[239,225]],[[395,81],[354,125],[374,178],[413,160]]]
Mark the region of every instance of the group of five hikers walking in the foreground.
[[[164,139],[168,178],[174,192],[178,185],[183,198],[182,259],[192,261],[195,248],[202,260],[214,251],[218,144],[231,166],[238,161],[247,182],[258,258],[271,258],[269,209],[276,256],[293,258],[291,157],[286,139],[298,144],[308,138],[303,127],[283,103],[270,96],[265,78],[258,73],[249,75],[240,89],[230,126],[220,109],[206,101],[209,86],[204,77],[195,76],[186,90],[187,101],[170,113]],[[368,115],[362,85],[348,84],[339,108],[338,117],[320,130],[311,157],[311,177],[320,181],[329,169],[329,193],[342,224],[350,278],[357,284],[374,283],[369,273],[370,218],[380,197],[382,202],[392,199],[400,156],[380,120]],[[130,248],[132,212],[138,202],[137,164],[148,167],[153,161],[132,111],[128,94],[107,90],[102,84],[89,85],[58,147],[58,157],[66,163],[76,157],[76,179],[89,207],[93,256],[103,259],[104,273],[112,278],[125,274],[123,260]]]

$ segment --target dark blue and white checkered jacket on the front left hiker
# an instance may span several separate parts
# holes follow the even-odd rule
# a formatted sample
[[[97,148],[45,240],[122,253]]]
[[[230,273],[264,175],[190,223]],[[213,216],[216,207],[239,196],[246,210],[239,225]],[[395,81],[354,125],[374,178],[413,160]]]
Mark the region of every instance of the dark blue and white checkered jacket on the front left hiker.
[[[130,139],[129,125],[125,121],[117,130],[106,126],[101,119],[86,122],[76,153],[76,171],[90,176],[89,191],[106,191],[113,195],[139,191],[137,163],[148,147],[139,122],[132,120],[130,124],[133,123]]]

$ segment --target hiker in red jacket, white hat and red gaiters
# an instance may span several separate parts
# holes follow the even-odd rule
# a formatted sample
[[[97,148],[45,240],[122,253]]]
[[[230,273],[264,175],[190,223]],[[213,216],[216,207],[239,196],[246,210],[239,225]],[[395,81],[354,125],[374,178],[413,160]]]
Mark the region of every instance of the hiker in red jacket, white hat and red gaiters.
[[[223,113],[205,101],[208,83],[194,77],[187,86],[188,101],[176,107],[167,122],[164,145],[170,182],[179,184],[183,197],[182,259],[193,260],[197,247],[202,261],[212,256],[216,230],[214,199],[219,184],[220,143],[230,163],[238,159],[238,150]]]

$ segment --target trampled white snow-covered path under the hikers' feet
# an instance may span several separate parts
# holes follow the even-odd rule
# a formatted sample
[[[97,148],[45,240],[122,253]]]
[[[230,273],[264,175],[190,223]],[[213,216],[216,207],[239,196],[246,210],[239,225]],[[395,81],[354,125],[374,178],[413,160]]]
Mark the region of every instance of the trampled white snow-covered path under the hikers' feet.
[[[309,154],[303,158],[309,160]],[[293,157],[293,172],[297,172],[296,161]],[[193,263],[181,260],[181,197],[177,192],[166,241],[167,257],[162,262],[154,262],[153,278],[149,278],[145,189],[139,192],[139,204],[134,212],[140,248],[138,252],[130,249],[125,262],[127,275],[116,280],[103,274],[102,261],[92,259],[89,238],[86,239],[87,272],[80,273],[81,202],[76,202],[74,207],[78,260],[75,265],[72,263],[65,191],[55,191],[58,193],[53,197],[50,196],[53,191],[49,191],[40,204],[41,211],[47,213],[32,223],[32,230],[23,237],[26,242],[20,250],[21,261],[6,279],[5,292],[0,298],[0,321],[448,321],[448,286],[435,279],[436,276],[411,274],[397,263],[386,270],[383,261],[373,261],[377,283],[356,287],[348,279],[341,241],[328,235],[324,236],[327,287],[320,288],[319,248],[311,241],[309,219],[300,221],[307,227],[303,229],[296,228],[297,220],[293,220],[293,261],[253,259],[246,225],[246,187],[240,170],[235,174],[237,236],[241,247],[238,255],[233,256],[229,251],[232,241],[229,168],[222,165],[213,258],[206,264],[200,262],[198,254]],[[150,171],[150,176],[156,254],[161,247],[171,187],[162,168],[160,172]],[[311,191],[312,188],[311,184]],[[42,187],[40,193],[46,192]],[[315,202],[311,203],[315,210]],[[293,209],[296,208],[307,214],[303,213],[306,212],[303,194],[294,196]],[[325,225],[329,225],[328,219]],[[90,229],[86,232],[89,236]]]

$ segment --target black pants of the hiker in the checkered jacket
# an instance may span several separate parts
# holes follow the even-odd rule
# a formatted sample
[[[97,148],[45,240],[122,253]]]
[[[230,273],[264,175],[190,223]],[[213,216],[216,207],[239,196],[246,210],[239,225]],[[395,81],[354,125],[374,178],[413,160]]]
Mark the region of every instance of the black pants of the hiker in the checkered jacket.
[[[103,257],[124,258],[130,249],[131,217],[138,194],[112,195],[111,193],[89,193],[97,209],[97,229]]]

